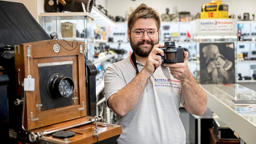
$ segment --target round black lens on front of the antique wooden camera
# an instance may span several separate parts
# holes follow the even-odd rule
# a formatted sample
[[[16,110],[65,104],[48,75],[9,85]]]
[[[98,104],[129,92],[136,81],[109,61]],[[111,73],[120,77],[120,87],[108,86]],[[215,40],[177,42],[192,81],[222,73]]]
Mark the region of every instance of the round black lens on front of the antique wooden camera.
[[[50,97],[54,99],[58,97],[70,97],[73,95],[74,82],[72,78],[56,73],[49,78],[47,91]]]

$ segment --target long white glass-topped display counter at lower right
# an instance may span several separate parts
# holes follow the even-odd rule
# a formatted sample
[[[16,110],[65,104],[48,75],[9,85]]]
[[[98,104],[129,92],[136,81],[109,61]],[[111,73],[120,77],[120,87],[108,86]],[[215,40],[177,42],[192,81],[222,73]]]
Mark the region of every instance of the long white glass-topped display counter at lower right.
[[[234,106],[232,100],[251,103],[256,100],[256,91],[239,84],[201,85],[206,91],[207,106],[241,138],[241,144],[254,144],[256,133],[256,113],[254,106]]]

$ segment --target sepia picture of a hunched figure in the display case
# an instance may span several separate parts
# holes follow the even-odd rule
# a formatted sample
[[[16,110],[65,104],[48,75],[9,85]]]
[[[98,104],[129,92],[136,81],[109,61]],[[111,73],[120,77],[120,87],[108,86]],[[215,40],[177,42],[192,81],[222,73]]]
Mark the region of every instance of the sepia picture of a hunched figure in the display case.
[[[234,42],[200,43],[200,83],[235,83]]]

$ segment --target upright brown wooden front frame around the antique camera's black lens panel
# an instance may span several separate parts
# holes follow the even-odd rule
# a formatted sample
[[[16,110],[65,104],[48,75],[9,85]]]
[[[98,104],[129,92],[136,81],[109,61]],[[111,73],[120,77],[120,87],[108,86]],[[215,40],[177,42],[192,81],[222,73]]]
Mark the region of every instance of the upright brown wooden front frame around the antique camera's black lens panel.
[[[59,44],[59,52],[54,52],[54,44]],[[26,129],[36,129],[87,116],[85,53],[81,53],[80,44],[82,44],[82,52],[84,52],[82,42],[65,40],[44,40],[24,43],[20,44],[19,48],[16,47],[15,68],[16,70],[20,69],[19,76],[17,73],[17,82],[22,83],[28,74],[35,78],[35,91],[25,91],[24,126]],[[28,51],[28,47],[30,47],[30,51]],[[29,54],[30,57],[28,57]],[[72,103],[69,106],[41,111],[38,64],[63,61],[72,61],[73,98],[76,100],[69,102]],[[17,89],[22,89],[21,85]],[[83,104],[84,107],[82,107]]]

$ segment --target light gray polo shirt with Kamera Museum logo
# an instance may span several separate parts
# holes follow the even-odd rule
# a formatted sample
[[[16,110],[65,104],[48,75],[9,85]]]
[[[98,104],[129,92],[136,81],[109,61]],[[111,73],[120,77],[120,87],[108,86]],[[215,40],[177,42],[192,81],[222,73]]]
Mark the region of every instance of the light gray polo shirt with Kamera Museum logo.
[[[140,72],[144,66],[137,62],[137,67]],[[130,56],[109,65],[104,77],[106,102],[135,76]],[[180,103],[184,103],[180,80],[171,75],[169,68],[159,67],[137,106],[123,117],[117,115],[117,124],[123,126],[118,144],[185,144]]]

